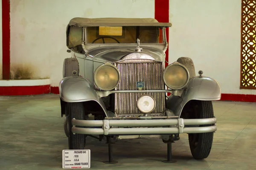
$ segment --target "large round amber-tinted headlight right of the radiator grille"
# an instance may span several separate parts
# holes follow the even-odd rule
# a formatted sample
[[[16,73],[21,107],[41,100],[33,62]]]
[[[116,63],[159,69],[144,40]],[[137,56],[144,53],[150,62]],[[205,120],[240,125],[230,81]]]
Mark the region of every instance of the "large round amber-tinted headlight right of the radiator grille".
[[[183,88],[189,82],[189,71],[184,65],[174,62],[164,69],[163,82],[174,90]]]

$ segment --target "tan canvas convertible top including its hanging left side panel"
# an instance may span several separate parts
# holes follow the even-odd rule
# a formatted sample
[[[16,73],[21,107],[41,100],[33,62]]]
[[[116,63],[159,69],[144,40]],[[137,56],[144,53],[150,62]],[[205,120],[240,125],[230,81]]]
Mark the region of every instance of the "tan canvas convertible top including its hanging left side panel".
[[[163,26],[171,23],[158,23],[154,18],[73,18],[67,25],[67,47],[73,48],[82,43],[82,27],[93,26]]]

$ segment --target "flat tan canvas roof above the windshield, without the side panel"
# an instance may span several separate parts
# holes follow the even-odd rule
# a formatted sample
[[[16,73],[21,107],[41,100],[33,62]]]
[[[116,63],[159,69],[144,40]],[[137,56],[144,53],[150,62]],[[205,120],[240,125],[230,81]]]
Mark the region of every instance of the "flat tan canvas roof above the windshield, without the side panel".
[[[73,18],[69,26],[165,26],[171,23],[158,23],[154,18]]]

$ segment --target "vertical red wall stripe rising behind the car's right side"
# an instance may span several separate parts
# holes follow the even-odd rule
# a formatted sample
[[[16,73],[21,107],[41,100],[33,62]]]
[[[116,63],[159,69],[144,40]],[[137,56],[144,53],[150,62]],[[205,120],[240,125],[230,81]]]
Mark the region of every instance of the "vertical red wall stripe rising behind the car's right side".
[[[155,19],[160,23],[169,23],[169,0],[155,0]],[[166,28],[166,39],[169,42],[169,28]],[[169,48],[166,50],[166,61],[169,61]]]

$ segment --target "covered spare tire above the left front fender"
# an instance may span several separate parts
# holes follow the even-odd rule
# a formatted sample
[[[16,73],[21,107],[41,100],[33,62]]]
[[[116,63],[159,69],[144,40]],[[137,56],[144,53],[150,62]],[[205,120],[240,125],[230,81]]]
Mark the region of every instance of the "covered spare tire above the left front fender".
[[[74,75],[73,72],[76,74]],[[70,77],[70,76],[79,76],[79,62],[76,58],[64,59],[63,77]]]

